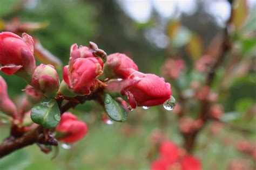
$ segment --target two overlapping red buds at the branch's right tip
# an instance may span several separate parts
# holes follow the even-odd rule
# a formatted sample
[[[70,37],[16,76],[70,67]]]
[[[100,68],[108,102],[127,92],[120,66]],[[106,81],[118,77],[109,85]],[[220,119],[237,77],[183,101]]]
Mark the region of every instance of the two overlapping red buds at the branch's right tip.
[[[125,54],[109,55],[105,68],[111,68],[107,69],[107,77],[121,80],[119,83],[110,82],[107,89],[119,89],[127,96],[131,108],[163,104],[171,97],[171,85],[164,78],[138,72],[137,65]]]

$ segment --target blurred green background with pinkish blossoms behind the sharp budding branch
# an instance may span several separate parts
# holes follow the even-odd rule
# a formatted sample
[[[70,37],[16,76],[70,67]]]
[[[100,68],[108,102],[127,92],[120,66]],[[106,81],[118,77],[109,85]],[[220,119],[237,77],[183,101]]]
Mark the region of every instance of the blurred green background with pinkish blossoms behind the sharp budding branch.
[[[193,154],[203,169],[254,169],[255,7],[255,0],[234,1],[231,16],[225,0],[0,0],[0,31],[11,31],[8,24],[15,22],[32,22],[26,32],[63,65],[73,43],[88,46],[93,41],[107,54],[125,53],[141,72],[165,77],[177,101],[172,111],[162,105],[134,109],[125,123],[102,121],[104,109],[86,102],[72,110],[89,126],[83,140],[60,144],[49,154],[36,145],[26,147],[0,160],[0,169],[149,169],[158,154],[156,140],[184,145],[205,97],[213,108],[209,115],[217,121],[208,121],[195,139]],[[208,65],[221,53],[228,20],[230,50],[207,89]],[[15,100],[26,83],[0,74]],[[0,125],[2,140],[9,124]],[[254,148],[255,158],[243,152],[245,143]]]

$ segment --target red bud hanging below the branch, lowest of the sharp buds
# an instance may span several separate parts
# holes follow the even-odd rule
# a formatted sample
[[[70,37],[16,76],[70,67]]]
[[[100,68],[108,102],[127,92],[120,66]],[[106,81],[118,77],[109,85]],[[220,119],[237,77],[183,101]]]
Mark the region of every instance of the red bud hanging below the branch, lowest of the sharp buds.
[[[87,125],[78,121],[77,117],[71,112],[65,112],[56,128],[57,132],[64,133],[64,137],[58,138],[66,143],[73,143],[82,139],[87,133]]]

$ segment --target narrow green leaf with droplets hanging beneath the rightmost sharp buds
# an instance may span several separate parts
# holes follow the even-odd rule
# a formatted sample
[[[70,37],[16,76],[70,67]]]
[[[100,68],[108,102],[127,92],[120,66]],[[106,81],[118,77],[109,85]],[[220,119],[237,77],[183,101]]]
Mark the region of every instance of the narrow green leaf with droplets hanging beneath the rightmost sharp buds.
[[[105,95],[105,110],[114,121],[125,122],[127,120],[127,111],[109,94]]]

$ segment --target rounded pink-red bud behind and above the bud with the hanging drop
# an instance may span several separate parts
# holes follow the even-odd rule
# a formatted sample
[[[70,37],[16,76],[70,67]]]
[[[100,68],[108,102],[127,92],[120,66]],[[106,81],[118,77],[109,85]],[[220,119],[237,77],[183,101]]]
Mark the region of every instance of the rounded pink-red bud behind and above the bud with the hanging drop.
[[[127,55],[122,53],[114,53],[107,56],[105,63],[107,77],[127,78],[131,74],[131,70],[138,71],[138,66]]]

